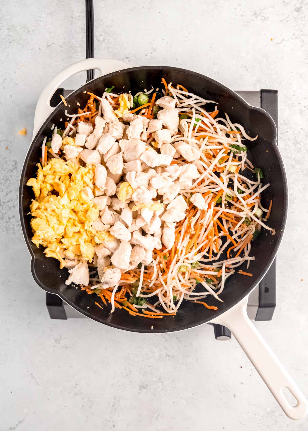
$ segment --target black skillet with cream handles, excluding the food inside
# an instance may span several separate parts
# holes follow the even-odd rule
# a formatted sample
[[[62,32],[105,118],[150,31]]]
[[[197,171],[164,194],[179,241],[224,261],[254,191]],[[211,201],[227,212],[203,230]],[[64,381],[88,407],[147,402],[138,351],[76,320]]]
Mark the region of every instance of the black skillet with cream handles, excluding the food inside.
[[[113,66],[112,70],[116,70],[119,67],[119,62],[113,62]],[[208,310],[199,304],[186,301],[182,304],[175,318],[145,319],[129,315],[119,309],[110,314],[108,307],[100,309],[94,305],[96,300],[94,295],[87,295],[80,289],[67,287],[65,284],[68,276],[67,270],[60,270],[57,260],[45,257],[43,247],[37,248],[32,244],[31,216],[28,211],[31,199],[34,196],[31,187],[27,187],[26,183],[29,178],[36,174],[36,164],[41,154],[40,147],[44,136],[50,134],[50,128],[53,124],[60,125],[61,119],[64,121],[66,119],[64,115],[66,108],[63,103],[53,110],[49,105],[50,98],[65,78],[76,72],[94,68],[98,68],[101,75],[104,76],[88,82],[79,90],[70,94],[69,97],[66,97],[66,102],[70,105],[67,107],[69,113],[75,112],[77,102],[81,106],[86,104],[88,100],[86,91],[102,94],[105,87],[114,85],[117,92],[128,92],[130,90],[134,94],[144,88],[150,88],[151,85],[154,88],[161,87],[160,82],[163,77],[167,82],[172,82],[173,85],[183,84],[189,91],[200,95],[204,99],[215,100],[220,113],[227,112],[231,121],[242,124],[250,136],[254,137],[258,134],[256,141],[248,141],[248,148],[255,166],[261,167],[264,172],[264,182],[270,183],[270,187],[262,194],[262,203],[265,207],[268,207],[270,200],[273,200],[269,224],[276,230],[276,235],[272,236],[268,231],[263,230],[258,240],[254,242],[251,256],[255,256],[255,260],[251,261],[249,267],[253,277],[245,277],[235,273],[228,278],[226,287],[220,294],[223,303],[217,303],[213,297],[208,298],[207,303],[217,305],[217,311]],[[58,294],[66,303],[85,316],[118,329],[160,333],[192,328],[206,322],[226,326],[232,331],[248,358],[251,359],[251,362],[286,415],[291,419],[301,419],[308,412],[307,400],[248,319],[246,312],[248,294],[261,281],[273,262],[286,223],[286,175],[276,145],[277,130],[273,119],[264,110],[248,105],[241,97],[224,85],[189,70],[165,66],[145,66],[124,69],[107,75],[102,72],[103,70],[106,73],[104,59],[87,59],[74,63],[63,69],[50,81],[38,101],[35,112],[35,130],[38,130],[38,132],[25,158],[19,186],[19,215],[25,241],[31,253],[33,278],[44,290]],[[110,69],[108,72],[110,72]],[[207,106],[207,108],[213,110],[214,106]],[[41,125],[43,119],[47,116],[46,111],[51,113]],[[295,397],[297,402],[295,406],[292,406],[283,395],[283,388],[288,388]]]

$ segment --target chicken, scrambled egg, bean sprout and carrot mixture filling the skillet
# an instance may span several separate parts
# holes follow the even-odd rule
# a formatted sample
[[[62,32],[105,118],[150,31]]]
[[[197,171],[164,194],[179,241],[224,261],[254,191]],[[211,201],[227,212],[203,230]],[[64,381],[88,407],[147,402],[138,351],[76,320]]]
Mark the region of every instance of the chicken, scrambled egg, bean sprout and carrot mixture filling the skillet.
[[[208,112],[213,101],[162,83],[135,97],[88,93],[85,109],[65,111],[65,130],[44,138],[27,183],[32,241],[69,269],[66,284],[111,312],[157,319],[183,300],[217,309],[206,298],[221,301],[236,271],[252,276],[252,242],[261,228],[275,234],[272,203],[261,205],[270,184],[247,157],[257,137]]]

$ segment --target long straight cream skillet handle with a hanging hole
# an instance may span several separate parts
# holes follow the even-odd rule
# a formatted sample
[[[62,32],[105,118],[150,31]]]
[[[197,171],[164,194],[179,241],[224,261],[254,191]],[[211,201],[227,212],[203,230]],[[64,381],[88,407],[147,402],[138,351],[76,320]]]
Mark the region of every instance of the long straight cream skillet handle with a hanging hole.
[[[308,401],[248,318],[247,301],[248,297],[245,297],[211,322],[229,328],[286,415],[290,419],[302,419],[308,413]],[[284,388],[295,398],[295,406],[284,396]]]

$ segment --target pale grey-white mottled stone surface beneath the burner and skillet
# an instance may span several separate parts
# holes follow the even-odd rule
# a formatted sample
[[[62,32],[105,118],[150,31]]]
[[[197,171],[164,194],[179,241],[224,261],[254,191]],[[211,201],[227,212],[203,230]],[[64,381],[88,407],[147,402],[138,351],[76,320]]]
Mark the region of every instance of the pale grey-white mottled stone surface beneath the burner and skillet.
[[[256,326],[308,395],[307,3],[94,3],[96,56],[184,67],[234,89],[279,90],[289,216],[276,311]],[[236,341],[217,342],[208,325],[139,335],[49,319],[29,269],[17,190],[40,92],[85,55],[84,1],[2,0],[1,9],[0,431],[307,430],[307,419],[283,415]]]

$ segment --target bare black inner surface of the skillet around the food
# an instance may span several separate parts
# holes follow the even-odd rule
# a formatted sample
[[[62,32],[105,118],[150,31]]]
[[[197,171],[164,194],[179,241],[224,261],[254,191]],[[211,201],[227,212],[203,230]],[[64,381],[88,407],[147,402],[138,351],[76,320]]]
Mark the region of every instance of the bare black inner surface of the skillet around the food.
[[[264,172],[264,184],[270,183],[270,187],[262,194],[262,203],[265,207],[268,207],[270,199],[273,200],[269,225],[276,229],[276,235],[272,236],[263,229],[258,240],[254,242],[251,256],[255,256],[255,261],[252,261],[249,267],[249,272],[252,272],[253,277],[246,277],[238,273],[230,277],[226,282],[223,293],[220,295],[224,301],[223,303],[218,303],[213,297],[208,298],[207,303],[218,306],[217,311],[208,310],[204,306],[194,304],[191,301],[185,301],[174,318],[145,319],[138,316],[134,317],[119,309],[110,314],[110,307],[100,309],[94,304],[97,300],[95,294],[87,295],[80,289],[67,287],[65,285],[65,280],[68,276],[67,270],[60,270],[57,260],[46,258],[43,253],[43,247],[37,248],[31,243],[31,216],[28,215],[28,211],[31,199],[33,199],[33,193],[31,187],[27,187],[25,184],[29,178],[36,174],[36,164],[40,157],[40,147],[44,135],[50,134],[50,128],[53,123],[60,125],[60,119],[66,120],[64,114],[66,107],[63,103],[54,109],[32,142],[23,166],[19,189],[19,212],[22,231],[32,256],[31,271],[36,283],[47,292],[59,294],[66,303],[98,322],[136,332],[168,332],[191,328],[210,321],[235,305],[258,284],[266,273],[277,253],[286,221],[286,176],[276,145],[276,127],[273,120],[265,111],[249,106],[237,94],[211,78],[185,69],[172,67],[147,66],[126,69],[97,78],[69,95],[66,98],[67,104],[70,105],[67,106],[68,112],[76,112],[77,102],[80,103],[80,106],[85,106],[88,100],[88,94],[85,91],[102,94],[105,87],[114,85],[115,89],[113,91],[115,92],[128,92],[130,90],[132,94],[135,94],[137,91],[151,88],[151,85],[154,89],[156,87],[161,88],[162,77],[167,82],[172,82],[173,85],[184,85],[189,91],[207,100],[215,100],[218,104],[220,115],[227,112],[231,121],[242,124],[250,136],[258,134],[256,141],[246,142],[252,159],[255,161],[255,166],[261,167]],[[207,109],[210,108],[207,107]],[[153,326],[153,329],[151,329],[151,326]]]

